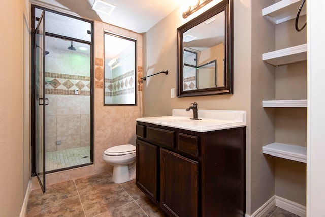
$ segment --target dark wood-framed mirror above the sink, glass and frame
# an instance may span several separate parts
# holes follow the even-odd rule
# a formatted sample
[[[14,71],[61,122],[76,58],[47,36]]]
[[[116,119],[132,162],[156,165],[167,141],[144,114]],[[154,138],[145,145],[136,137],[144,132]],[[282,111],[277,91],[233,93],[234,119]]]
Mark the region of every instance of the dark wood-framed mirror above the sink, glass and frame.
[[[232,0],[177,29],[177,97],[233,93]]]

